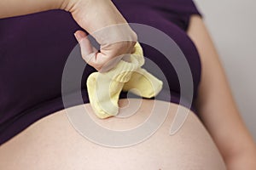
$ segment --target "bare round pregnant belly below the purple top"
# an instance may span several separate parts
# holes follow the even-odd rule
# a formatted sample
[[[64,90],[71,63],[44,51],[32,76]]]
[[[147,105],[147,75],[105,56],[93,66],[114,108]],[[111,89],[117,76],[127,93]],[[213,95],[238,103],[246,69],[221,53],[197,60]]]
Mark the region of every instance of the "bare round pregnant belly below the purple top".
[[[134,104],[139,104],[139,108]],[[83,107],[97,125],[108,130],[125,132],[147,121],[153,110],[154,100],[120,99],[119,105],[122,106],[120,113],[127,114],[130,111],[135,114],[126,118],[99,120],[92,113],[89,104]],[[156,132],[137,144],[120,148],[92,142],[81,135],[79,128],[73,126],[68,119],[71,117],[67,116],[65,110],[55,112],[35,122],[0,147],[0,169],[225,169],[216,145],[193,112],[189,111],[183,126],[177,133],[170,135],[178,105],[164,101],[158,101],[157,105],[158,114],[164,112],[161,108],[166,108],[166,105],[169,105],[169,110],[166,120]],[[72,111],[75,111],[76,107],[73,107]],[[75,112],[69,111],[68,114]],[[90,131],[98,134],[95,129]],[[104,134],[101,135],[104,138]],[[108,136],[108,133],[105,136]],[[124,141],[127,140],[130,139],[124,137]]]

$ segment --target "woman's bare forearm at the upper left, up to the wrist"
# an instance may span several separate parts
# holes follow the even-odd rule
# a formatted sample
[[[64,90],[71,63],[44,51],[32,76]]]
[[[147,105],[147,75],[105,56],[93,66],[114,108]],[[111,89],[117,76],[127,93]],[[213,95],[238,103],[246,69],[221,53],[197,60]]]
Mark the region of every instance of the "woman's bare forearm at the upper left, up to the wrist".
[[[69,0],[1,0],[0,18],[66,8]]]

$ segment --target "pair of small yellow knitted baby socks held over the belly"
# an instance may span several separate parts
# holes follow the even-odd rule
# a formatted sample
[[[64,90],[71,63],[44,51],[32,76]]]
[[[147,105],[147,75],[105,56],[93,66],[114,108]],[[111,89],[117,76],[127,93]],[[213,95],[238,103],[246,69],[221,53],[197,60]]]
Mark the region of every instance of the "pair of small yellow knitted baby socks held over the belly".
[[[94,72],[88,77],[86,84],[90,105],[99,118],[118,114],[122,90],[152,98],[162,88],[163,82],[141,68],[144,64],[143,48],[138,42],[134,48],[133,54],[126,55],[110,71]]]

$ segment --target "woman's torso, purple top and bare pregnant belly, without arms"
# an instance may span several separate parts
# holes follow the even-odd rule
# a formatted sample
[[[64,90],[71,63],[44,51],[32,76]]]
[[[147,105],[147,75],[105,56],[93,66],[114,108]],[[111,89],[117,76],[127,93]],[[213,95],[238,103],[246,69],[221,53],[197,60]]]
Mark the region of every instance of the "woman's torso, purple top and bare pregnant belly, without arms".
[[[195,45],[186,34],[190,15],[198,14],[194,4],[189,0],[117,0],[113,3],[128,22],[154,26],[177,42],[188,59],[196,94],[201,63]],[[19,133],[1,146],[0,168],[224,169],[217,147],[194,112],[190,111],[175,135],[169,134],[178,105],[166,101],[158,101],[160,108],[170,105],[166,121],[153,136],[140,144],[113,149],[85,139],[68,121],[66,111],[61,110],[61,74],[68,54],[77,43],[73,32],[80,29],[71,15],[64,11],[48,11],[0,20],[0,26],[0,34],[4,35],[0,41],[3,47],[0,48],[0,85],[4,95],[0,98],[1,138],[6,140]],[[145,44],[143,48],[145,56],[163,69],[171,91],[177,94],[171,102],[178,103],[179,84],[172,64],[160,57],[154,48]],[[92,71],[87,67],[82,84]],[[84,102],[88,103],[86,91],[84,96]],[[120,104],[124,101],[121,99]],[[137,99],[132,101],[139,102]],[[142,102],[137,114],[126,119],[113,117],[104,121],[93,116],[90,104],[84,107],[103,127],[120,130],[137,127],[147,120],[155,101],[143,99]],[[163,112],[160,108],[158,114]],[[129,106],[126,108],[126,111],[131,110]],[[26,130],[20,133],[24,128]],[[93,129],[92,132],[97,133]]]

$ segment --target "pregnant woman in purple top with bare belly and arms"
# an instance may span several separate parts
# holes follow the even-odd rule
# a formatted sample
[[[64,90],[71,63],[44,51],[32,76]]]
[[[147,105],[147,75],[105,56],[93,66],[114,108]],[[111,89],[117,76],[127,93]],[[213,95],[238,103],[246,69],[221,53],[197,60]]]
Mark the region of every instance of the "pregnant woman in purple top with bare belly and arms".
[[[2,0],[0,18],[0,169],[256,169],[255,144],[191,0]],[[182,97],[177,73],[166,56],[142,43],[144,56],[166,77],[160,97],[129,99],[130,104],[141,105],[126,118],[96,118],[85,87],[87,77],[114,57],[131,53],[140,35],[127,25],[125,34],[113,28],[113,36],[131,41],[104,46],[102,37],[95,36],[101,51],[84,69],[82,89],[74,89],[82,91],[86,114],[102,127],[126,130],[143,123],[153,105],[157,114],[165,114],[163,108],[169,107],[165,122],[148,139],[113,148],[84,138],[69,122],[61,78],[78,43],[74,32],[81,42],[83,31],[93,33],[126,22],[152,26],[177,43],[191,69],[194,95],[191,107],[180,104],[189,115],[170,135]],[[80,43],[80,48],[88,46]],[[144,67],[154,74],[147,62]],[[119,106],[134,112],[125,94],[120,98]]]

